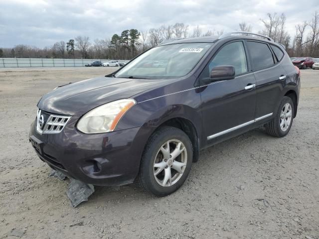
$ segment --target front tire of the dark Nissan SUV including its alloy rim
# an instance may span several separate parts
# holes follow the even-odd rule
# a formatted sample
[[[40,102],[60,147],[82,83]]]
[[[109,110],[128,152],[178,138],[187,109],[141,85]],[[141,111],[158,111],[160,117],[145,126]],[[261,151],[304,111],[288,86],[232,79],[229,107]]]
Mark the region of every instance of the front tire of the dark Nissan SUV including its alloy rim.
[[[167,196],[185,182],[192,154],[191,141],[182,130],[161,127],[151,135],[145,147],[137,181],[155,196]]]

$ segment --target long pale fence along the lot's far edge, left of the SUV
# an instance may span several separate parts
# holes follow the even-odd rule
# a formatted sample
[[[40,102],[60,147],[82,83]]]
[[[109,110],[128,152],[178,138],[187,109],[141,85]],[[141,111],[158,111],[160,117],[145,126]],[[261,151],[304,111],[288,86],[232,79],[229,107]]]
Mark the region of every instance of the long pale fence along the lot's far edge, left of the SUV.
[[[47,58],[0,58],[1,67],[70,67],[85,66],[92,61],[109,62],[107,59],[47,59]],[[119,60],[121,62],[121,60]]]

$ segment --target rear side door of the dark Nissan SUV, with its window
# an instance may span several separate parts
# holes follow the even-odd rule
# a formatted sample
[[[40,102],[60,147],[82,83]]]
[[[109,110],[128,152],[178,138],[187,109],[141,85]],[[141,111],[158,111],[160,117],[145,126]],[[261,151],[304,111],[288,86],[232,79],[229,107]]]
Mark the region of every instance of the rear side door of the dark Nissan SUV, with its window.
[[[266,42],[247,40],[252,69],[256,78],[256,115],[260,124],[275,114],[287,73]]]

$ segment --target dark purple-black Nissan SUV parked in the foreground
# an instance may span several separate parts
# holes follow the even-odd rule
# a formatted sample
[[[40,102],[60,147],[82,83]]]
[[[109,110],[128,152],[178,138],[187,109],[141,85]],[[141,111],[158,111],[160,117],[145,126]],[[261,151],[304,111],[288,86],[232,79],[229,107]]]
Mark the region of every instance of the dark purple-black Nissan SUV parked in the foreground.
[[[165,64],[144,67],[151,61]],[[165,196],[184,183],[200,149],[262,125],[285,136],[299,92],[299,70],[271,38],[169,40],[113,74],[44,95],[29,138],[39,158],[68,177],[101,186],[137,181]]]

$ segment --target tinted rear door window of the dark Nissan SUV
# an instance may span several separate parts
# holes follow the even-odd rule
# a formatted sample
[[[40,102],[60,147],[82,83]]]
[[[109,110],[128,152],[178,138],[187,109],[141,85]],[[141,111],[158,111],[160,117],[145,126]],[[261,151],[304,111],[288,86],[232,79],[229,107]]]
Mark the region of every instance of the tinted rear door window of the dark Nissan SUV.
[[[275,65],[273,54],[266,43],[247,41],[247,47],[255,71]]]

